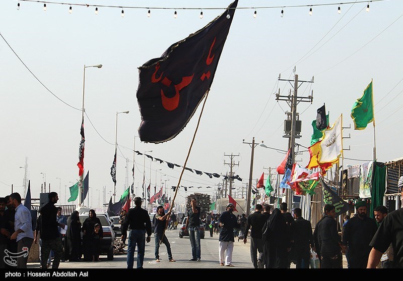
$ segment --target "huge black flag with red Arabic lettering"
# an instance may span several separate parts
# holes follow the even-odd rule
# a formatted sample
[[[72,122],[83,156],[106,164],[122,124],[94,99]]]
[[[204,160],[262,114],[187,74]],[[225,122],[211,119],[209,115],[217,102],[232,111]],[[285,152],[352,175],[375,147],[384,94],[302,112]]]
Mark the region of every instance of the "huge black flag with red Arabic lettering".
[[[237,4],[139,68],[141,141],[168,141],[189,122],[213,83]]]

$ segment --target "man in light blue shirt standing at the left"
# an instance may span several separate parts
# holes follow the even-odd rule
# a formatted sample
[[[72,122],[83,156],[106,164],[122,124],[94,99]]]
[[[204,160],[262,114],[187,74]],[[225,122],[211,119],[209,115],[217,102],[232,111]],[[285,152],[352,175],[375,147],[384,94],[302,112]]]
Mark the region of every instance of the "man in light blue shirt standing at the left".
[[[31,212],[21,204],[21,195],[18,192],[10,194],[9,201],[16,210],[14,220],[15,232],[11,235],[10,239],[17,241],[17,253],[12,254],[18,254],[17,268],[27,268],[29,250],[34,241]]]

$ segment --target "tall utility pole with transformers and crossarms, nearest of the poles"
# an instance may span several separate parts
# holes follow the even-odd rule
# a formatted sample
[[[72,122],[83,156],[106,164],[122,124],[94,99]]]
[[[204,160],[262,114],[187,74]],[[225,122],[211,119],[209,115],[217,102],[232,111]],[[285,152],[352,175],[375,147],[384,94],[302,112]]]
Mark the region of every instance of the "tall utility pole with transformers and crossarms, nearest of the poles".
[[[295,73],[295,68],[294,68],[294,73]],[[285,135],[283,137],[289,138],[288,149],[291,150],[290,151],[291,159],[292,159],[292,163],[294,164],[295,163],[295,139],[301,137],[301,135],[300,135],[301,121],[299,120],[299,114],[297,113],[297,105],[300,102],[310,102],[312,104],[312,100],[313,100],[313,90],[312,90],[311,95],[304,97],[304,96],[298,96],[298,88],[305,82],[313,83],[313,76],[312,76],[312,80],[304,81],[304,80],[298,80],[298,74],[295,74],[294,80],[281,79],[281,76],[279,75],[279,81],[288,81],[290,84],[291,84],[291,82],[294,82],[293,95],[291,95],[291,91],[288,94],[288,96],[280,95],[280,89],[279,89],[279,92],[276,94],[276,99],[278,101],[285,100],[288,103],[288,105],[291,107],[291,121],[290,121],[290,114],[287,113],[287,120],[284,123]],[[292,190],[291,189],[287,189],[286,198],[287,198],[286,202],[287,202],[288,209],[291,210],[291,206],[292,206]]]

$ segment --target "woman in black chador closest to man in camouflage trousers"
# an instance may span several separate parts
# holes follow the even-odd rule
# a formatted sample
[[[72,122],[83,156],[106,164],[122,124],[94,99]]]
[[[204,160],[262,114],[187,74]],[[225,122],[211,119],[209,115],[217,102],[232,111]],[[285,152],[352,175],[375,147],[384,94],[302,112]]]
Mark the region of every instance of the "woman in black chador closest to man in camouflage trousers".
[[[79,212],[74,211],[67,219],[66,253],[70,261],[81,258],[81,222]]]

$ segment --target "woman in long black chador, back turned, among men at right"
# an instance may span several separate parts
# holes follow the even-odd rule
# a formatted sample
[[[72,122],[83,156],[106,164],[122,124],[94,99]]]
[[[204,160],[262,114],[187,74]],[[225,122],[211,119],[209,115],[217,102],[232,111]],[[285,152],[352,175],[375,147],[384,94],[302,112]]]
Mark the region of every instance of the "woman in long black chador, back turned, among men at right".
[[[290,234],[280,209],[274,209],[262,229],[263,254],[266,268],[288,268],[287,248]]]

